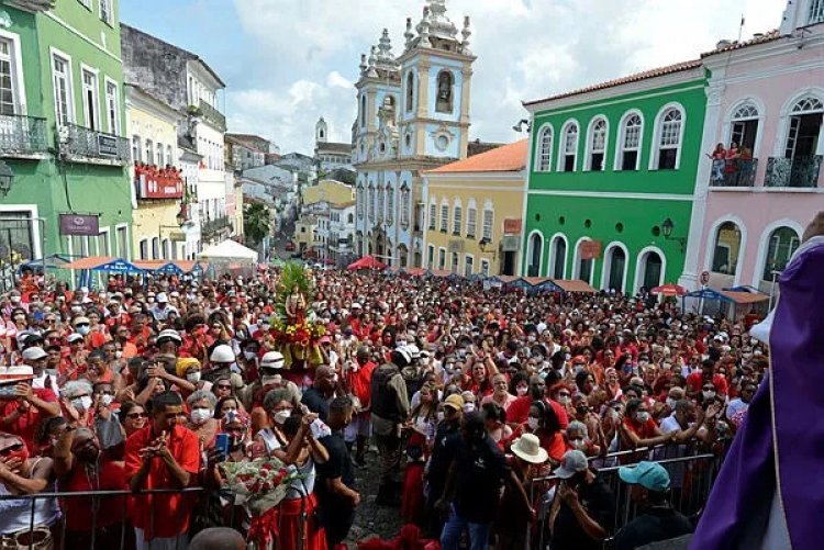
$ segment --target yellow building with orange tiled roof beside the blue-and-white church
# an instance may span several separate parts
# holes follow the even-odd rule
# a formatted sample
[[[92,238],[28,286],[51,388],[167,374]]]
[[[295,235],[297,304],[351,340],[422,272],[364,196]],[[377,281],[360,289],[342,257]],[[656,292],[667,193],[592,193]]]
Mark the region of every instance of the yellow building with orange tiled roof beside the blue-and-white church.
[[[464,277],[515,274],[527,141],[423,173],[424,267]]]

